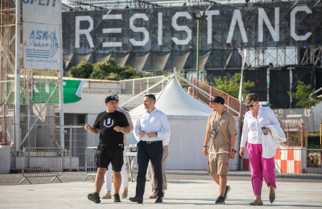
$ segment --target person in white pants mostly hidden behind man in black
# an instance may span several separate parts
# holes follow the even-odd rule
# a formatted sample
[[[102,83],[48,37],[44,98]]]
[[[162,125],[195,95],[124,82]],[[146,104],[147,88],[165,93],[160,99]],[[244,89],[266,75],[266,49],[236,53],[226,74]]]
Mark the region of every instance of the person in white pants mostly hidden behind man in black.
[[[116,101],[117,101],[117,110],[120,111],[120,112],[123,112],[125,114],[126,118],[128,119],[128,123],[130,124],[130,132],[132,132],[133,129],[134,129],[134,126],[133,126],[130,114],[128,113],[128,111],[118,107],[118,105],[119,105],[118,95],[112,94],[112,96],[114,96]],[[128,197],[128,172],[125,169],[126,147],[127,146],[128,146],[128,140],[126,138],[126,135],[124,135],[124,151],[123,151],[124,164],[123,164],[122,170],[121,170],[123,192],[122,192],[121,198],[127,198]],[[108,170],[105,173],[104,180],[105,180],[105,191],[106,191],[106,193],[105,193],[105,195],[102,196],[102,199],[112,199],[112,195],[111,195],[112,165],[111,164],[109,164],[109,166],[108,166]]]

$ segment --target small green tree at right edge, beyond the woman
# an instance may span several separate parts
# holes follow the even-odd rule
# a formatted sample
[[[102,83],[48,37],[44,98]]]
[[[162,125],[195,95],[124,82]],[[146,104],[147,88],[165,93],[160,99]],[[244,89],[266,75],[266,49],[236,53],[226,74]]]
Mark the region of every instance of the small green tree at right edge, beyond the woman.
[[[317,94],[314,93],[313,90],[310,91],[312,88],[311,85],[305,85],[303,81],[298,81],[298,85],[296,86],[296,92],[287,93],[292,97],[298,100],[296,105],[299,108],[311,108],[317,105],[317,103],[322,101],[322,97],[317,97]]]

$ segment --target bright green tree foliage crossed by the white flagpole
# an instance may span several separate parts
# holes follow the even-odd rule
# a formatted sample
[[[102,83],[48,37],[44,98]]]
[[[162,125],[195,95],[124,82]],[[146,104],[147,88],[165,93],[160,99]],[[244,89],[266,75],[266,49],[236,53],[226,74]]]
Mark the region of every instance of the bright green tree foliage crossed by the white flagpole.
[[[227,76],[224,76],[223,79],[221,76],[219,78],[214,78],[214,84],[212,84],[213,87],[222,90],[223,92],[229,94],[232,97],[238,98],[239,94],[239,86],[240,86],[240,79],[242,74],[241,73],[235,73],[230,80],[228,80]],[[254,81],[245,81],[245,76],[243,77],[242,82],[242,96],[243,98],[246,97],[247,94],[250,93],[248,88],[254,87],[255,82]]]

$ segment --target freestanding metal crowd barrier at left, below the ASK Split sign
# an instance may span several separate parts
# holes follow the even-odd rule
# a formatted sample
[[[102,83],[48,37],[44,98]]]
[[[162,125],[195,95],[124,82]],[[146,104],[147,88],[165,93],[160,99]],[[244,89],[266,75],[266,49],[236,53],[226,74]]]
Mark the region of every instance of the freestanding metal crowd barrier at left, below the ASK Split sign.
[[[53,176],[52,182],[62,175],[62,147],[26,147],[23,152],[22,175],[31,184],[28,178]]]

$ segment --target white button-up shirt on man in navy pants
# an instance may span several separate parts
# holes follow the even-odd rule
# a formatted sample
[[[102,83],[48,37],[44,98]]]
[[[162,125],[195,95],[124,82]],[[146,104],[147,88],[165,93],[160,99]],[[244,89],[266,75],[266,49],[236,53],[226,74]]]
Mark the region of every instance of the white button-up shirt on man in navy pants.
[[[146,133],[156,132],[157,137],[148,138],[147,135],[140,137],[142,141],[160,141],[163,140],[163,146],[169,145],[170,125],[166,114],[154,108],[150,113],[148,111],[140,112],[135,125],[135,134],[139,137],[139,131],[144,130]]]

